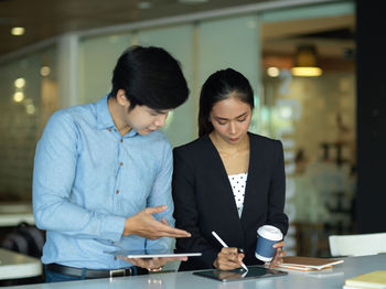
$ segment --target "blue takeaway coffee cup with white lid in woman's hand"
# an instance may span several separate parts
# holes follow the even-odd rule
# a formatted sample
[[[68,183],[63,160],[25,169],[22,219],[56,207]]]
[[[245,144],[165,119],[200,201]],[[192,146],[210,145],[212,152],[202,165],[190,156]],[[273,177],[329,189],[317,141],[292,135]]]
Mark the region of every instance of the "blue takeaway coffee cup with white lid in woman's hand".
[[[281,231],[271,225],[264,225],[257,229],[257,236],[256,258],[270,261],[276,251],[274,244],[282,239]]]

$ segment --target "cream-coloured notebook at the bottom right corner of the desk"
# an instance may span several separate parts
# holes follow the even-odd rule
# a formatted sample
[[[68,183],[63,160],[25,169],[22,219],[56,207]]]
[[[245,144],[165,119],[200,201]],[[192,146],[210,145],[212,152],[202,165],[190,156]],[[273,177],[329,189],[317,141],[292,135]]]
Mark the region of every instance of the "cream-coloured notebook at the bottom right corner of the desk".
[[[346,279],[344,288],[386,288],[386,270],[361,274]]]

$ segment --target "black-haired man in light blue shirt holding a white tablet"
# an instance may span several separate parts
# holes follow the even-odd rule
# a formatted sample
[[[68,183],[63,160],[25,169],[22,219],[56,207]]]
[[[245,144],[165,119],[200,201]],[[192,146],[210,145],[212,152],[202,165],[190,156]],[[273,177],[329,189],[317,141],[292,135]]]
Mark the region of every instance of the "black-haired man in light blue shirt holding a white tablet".
[[[157,270],[168,259],[105,251],[168,249],[172,238],[190,237],[173,227],[172,151],[158,131],[187,95],[176,60],[159,47],[135,46],[119,57],[106,97],[51,116],[33,171],[46,281]]]

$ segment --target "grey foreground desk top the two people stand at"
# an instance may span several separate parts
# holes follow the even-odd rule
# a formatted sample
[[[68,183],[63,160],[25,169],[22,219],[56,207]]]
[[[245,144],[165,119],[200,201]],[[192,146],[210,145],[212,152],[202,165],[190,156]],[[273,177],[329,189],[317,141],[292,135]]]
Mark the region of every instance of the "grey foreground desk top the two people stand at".
[[[344,258],[344,263],[321,272],[296,272],[287,276],[223,283],[192,275],[192,272],[152,274],[58,283],[40,283],[18,289],[342,289],[344,280],[358,274],[386,269],[386,254]]]

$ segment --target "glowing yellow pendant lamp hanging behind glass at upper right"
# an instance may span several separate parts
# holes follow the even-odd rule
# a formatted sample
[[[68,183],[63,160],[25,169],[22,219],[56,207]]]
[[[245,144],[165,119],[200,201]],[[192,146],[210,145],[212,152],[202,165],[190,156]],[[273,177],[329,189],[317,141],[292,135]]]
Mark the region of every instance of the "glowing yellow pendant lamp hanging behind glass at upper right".
[[[318,53],[314,45],[300,45],[294,56],[293,76],[320,76],[322,68],[318,65]]]

